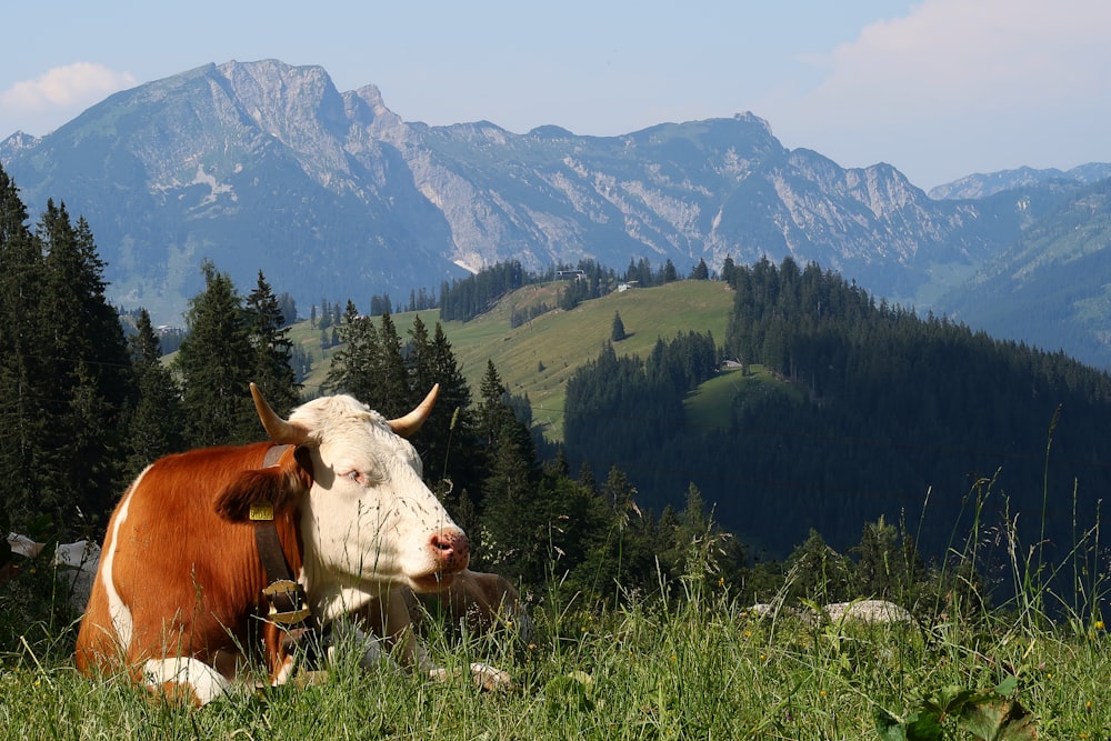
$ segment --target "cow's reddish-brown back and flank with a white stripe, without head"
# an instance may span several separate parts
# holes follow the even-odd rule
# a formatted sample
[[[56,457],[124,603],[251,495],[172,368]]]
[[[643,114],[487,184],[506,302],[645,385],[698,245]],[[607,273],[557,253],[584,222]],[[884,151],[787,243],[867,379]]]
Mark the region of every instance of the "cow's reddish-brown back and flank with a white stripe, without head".
[[[120,500],[104,535],[100,568],[77,642],[89,672],[123,661],[188,655],[218,663],[250,640],[250,614],[266,575],[250,523],[216,512],[216,498],[262,465],[269,443],[163,458]],[[294,539],[292,514],[279,521]],[[300,563],[293,563],[294,569]]]

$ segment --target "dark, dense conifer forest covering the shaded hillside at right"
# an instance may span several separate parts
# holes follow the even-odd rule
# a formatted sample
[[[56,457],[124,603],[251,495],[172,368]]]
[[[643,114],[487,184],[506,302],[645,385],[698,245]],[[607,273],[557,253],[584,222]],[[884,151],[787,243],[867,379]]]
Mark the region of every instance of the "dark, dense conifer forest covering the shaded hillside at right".
[[[981,499],[981,525],[1005,511],[1028,547],[1044,533],[1067,553],[1095,524],[1111,484],[1105,373],[877,303],[814,264],[763,260],[727,278],[723,357],[770,368],[779,389],[739,393],[728,429],[688,429],[695,377],[660,384],[654,358],[619,373],[603,353],[568,385],[569,459],[630,471],[657,509],[692,481],[727,529],[775,555],[812,528],[845,549],[882,515],[938,558]]]

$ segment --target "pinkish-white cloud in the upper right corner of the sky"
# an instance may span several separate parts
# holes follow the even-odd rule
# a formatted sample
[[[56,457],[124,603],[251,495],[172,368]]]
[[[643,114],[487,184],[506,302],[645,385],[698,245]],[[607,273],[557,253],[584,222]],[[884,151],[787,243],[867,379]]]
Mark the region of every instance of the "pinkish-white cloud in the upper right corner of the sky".
[[[925,0],[821,59],[808,98],[855,119],[967,117],[1109,90],[1111,3]]]

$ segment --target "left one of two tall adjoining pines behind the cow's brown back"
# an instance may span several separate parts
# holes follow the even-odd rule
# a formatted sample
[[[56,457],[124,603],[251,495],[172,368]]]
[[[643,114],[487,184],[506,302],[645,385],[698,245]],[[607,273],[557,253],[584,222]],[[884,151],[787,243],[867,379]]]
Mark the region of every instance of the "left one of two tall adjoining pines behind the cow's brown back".
[[[226,273],[206,261],[204,290],[189,302],[189,336],[176,360],[184,385],[187,442],[191,447],[258,439],[250,381],[256,368],[242,299]]]

